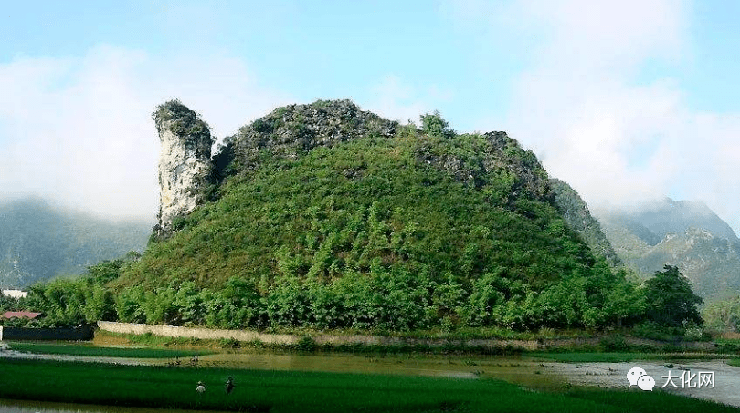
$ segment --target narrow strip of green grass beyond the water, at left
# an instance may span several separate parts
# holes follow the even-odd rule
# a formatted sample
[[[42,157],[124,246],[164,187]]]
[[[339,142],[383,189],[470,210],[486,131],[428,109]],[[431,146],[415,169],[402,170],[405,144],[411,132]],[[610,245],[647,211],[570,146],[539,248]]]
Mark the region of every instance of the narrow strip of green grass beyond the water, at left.
[[[170,348],[136,348],[136,347],[101,347],[79,343],[13,343],[10,349],[34,354],[69,355],[69,356],[99,356],[99,357],[126,357],[126,358],[174,358],[192,357],[211,354],[207,350],[184,350]]]

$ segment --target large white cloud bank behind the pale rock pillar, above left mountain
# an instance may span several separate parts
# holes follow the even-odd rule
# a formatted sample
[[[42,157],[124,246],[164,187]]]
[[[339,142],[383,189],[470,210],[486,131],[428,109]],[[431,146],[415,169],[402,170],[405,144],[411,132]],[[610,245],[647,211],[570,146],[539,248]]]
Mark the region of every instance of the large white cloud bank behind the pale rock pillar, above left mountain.
[[[289,100],[259,88],[235,58],[155,57],[114,46],[84,57],[16,57],[0,65],[0,89],[0,196],[36,193],[151,221],[157,104],[180,98],[223,137]]]

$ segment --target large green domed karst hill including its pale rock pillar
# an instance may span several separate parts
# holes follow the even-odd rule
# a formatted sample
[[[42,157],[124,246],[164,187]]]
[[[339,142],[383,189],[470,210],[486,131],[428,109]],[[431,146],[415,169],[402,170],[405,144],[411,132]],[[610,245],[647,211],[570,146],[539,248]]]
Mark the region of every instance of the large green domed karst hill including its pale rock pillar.
[[[204,309],[185,320],[164,305],[144,321],[533,328],[629,316],[608,242],[588,247],[534,153],[505,132],[460,134],[438,113],[401,125],[320,100],[277,108],[211,154],[206,122],[180,102],[153,117],[159,223],[111,286],[119,305],[181,308],[189,291]],[[214,294],[223,309],[206,308]]]

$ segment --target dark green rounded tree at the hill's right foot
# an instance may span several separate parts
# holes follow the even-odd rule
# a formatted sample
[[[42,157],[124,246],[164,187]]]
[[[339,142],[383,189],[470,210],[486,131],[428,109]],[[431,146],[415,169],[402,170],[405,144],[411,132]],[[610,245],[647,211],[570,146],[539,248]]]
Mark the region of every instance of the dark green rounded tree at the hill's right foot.
[[[678,267],[665,265],[663,271],[646,281],[645,298],[648,318],[660,325],[678,327],[687,322],[697,325],[703,322],[696,305],[704,300],[693,294],[688,278]]]

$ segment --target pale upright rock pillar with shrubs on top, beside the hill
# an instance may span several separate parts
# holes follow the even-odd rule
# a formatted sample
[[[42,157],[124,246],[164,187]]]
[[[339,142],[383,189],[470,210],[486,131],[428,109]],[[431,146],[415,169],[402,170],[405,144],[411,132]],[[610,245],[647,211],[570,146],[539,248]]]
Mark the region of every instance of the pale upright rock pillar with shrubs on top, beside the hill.
[[[212,170],[213,138],[206,122],[176,100],[159,106],[153,119],[161,142],[155,231],[166,236],[172,232],[176,217],[185,216],[204,201]]]

